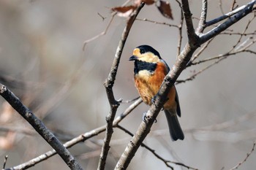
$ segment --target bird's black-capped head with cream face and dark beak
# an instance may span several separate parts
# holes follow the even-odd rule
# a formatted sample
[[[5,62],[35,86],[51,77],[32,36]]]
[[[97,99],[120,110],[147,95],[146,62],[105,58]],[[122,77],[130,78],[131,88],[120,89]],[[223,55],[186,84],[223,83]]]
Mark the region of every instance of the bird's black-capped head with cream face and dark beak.
[[[132,57],[129,61],[144,61],[148,63],[157,63],[161,60],[161,57],[157,50],[149,45],[140,45],[133,50]]]

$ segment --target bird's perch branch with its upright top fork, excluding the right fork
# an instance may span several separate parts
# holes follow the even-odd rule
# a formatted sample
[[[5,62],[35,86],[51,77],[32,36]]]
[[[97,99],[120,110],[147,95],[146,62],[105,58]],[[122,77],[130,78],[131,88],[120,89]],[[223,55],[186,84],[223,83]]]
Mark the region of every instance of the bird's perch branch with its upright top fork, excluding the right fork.
[[[192,54],[197,49],[196,39],[197,35],[195,34],[194,27],[192,25],[192,18],[191,13],[189,11],[189,3],[187,0],[182,1],[182,9],[184,11],[184,17],[186,20],[187,25],[187,34],[189,37],[189,43],[184,47],[181,54],[178,56],[175,66],[173,69],[167,74],[165,77],[164,82],[159,89],[159,92],[155,96],[155,102],[151,105],[150,109],[146,113],[145,121],[140,123],[140,127],[136,132],[135,136],[132,137],[132,140],[127,145],[126,149],[124,150],[121,158],[119,159],[118,163],[116,164],[115,169],[127,169],[130,161],[135,155],[135,152],[140,147],[140,144],[146,138],[147,134],[150,131],[151,126],[153,125],[154,121],[156,120],[157,115],[159,114],[160,109],[162,109],[163,104],[167,99],[167,93],[169,92],[170,88],[173,86],[174,82],[178,78],[178,75],[181,74],[182,70],[186,68],[187,63],[189,62]]]

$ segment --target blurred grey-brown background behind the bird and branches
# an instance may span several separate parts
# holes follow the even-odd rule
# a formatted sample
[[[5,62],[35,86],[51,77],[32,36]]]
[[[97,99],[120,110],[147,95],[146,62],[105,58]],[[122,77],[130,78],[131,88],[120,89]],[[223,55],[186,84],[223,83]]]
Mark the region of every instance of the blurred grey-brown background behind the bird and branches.
[[[110,107],[103,82],[110,72],[126,18],[116,16],[106,34],[89,42],[84,51],[83,42],[104,31],[111,19],[110,9],[124,2],[0,1],[0,82],[7,85],[62,142],[105,125]],[[154,5],[143,7],[138,18],[178,25],[180,8],[176,1],[169,2],[174,20],[164,18]],[[189,2],[197,26],[201,1]],[[220,2],[208,2],[208,20],[222,15],[222,10],[225,13],[230,11],[232,2],[223,1],[219,7]],[[239,5],[244,3],[237,1]],[[239,21],[230,31],[243,32],[252,17],[253,14]],[[253,20],[246,33],[255,33],[255,28]],[[187,41],[185,28],[183,36],[181,47]],[[227,53],[239,37],[219,35],[198,61]],[[248,38],[244,36],[241,42]],[[133,63],[128,58],[135,47],[144,44],[157,49],[171,67],[176,61],[178,29],[135,21],[113,88],[116,99],[127,101],[138,97],[133,80]],[[255,45],[250,49],[255,51]],[[179,121],[184,130],[184,141],[170,140],[165,115],[160,112],[145,143],[162,158],[196,169],[231,169],[236,166],[252,150],[256,139],[255,62],[252,53],[232,55],[199,74],[195,80],[177,85],[181,104]],[[210,64],[206,62],[189,67],[182,72],[179,80]],[[129,104],[121,104],[117,116]],[[6,167],[16,166],[51,150],[3,98],[0,98],[0,105],[0,163],[8,155]],[[147,109],[146,104],[140,104],[120,125],[135,133]],[[99,134],[69,149],[84,169],[97,169],[104,136],[105,133]],[[106,169],[114,168],[129,139],[128,134],[114,129]],[[255,159],[256,154],[252,152],[240,169],[254,169]],[[31,169],[68,167],[56,155]],[[128,169],[167,167],[151,152],[140,147]]]

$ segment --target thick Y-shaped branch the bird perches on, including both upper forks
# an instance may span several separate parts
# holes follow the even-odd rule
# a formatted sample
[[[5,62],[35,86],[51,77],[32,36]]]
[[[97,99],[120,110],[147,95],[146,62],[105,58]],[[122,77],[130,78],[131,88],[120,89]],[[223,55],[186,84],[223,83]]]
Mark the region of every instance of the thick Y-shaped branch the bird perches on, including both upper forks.
[[[209,39],[219,34],[218,31],[224,31],[225,28],[228,28],[241,18],[244,18],[244,16],[248,15],[249,12],[252,12],[255,1],[252,1],[246,6],[244,10],[238,12],[236,15],[229,18],[226,21],[227,23],[225,22],[225,26],[220,25],[219,27],[217,27],[217,32],[212,31],[213,33],[210,32],[206,35],[198,37],[195,34],[195,30],[192,25],[191,12],[189,10],[189,2],[187,0],[182,0],[181,7],[184,11],[184,18],[186,20],[189,42],[187,42],[184,49],[181,51],[181,54],[178,55],[178,59],[176,60],[175,65],[167,74],[165,80],[162,82],[159,92],[157,93],[156,96],[154,96],[154,104],[152,104],[150,109],[148,109],[145,120],[142,123],[140,123],[138,131],[132,137],[131,141],[127,144],[127,147],[125,148],[123,154],[121,155],[121,158],[116,164],[115,169],[127,169],[130,161],[135,155],[135,152],[137,152],[138,147],[140,147],[143,140],[149,133],[150,128],[153,125],[154,120],[156,120],[156,117],[159,114],[160,109],[162,109],[162,106],[165,104],[167,94],[170,91],[170,88],[174,85],[174,82],[176,82],[181,72],[187,67],[187,63],[189,62],[195,50],[197,50],[197,48],[204,42],[207,42]]]

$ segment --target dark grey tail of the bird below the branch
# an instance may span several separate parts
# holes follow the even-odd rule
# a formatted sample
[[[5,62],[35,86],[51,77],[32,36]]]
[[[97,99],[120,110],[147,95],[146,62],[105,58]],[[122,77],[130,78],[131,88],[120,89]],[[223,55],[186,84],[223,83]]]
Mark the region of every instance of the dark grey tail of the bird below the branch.
[[[181,130],[181,125],[178,123],[178,117],[176,112],[173,112],[173,110],[165,109],[165,116],[167,118],[170,136],[173,139],[173,141],[176,141],[178,139],[183,140],[184,134],[183,131]]]

